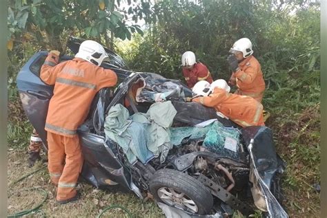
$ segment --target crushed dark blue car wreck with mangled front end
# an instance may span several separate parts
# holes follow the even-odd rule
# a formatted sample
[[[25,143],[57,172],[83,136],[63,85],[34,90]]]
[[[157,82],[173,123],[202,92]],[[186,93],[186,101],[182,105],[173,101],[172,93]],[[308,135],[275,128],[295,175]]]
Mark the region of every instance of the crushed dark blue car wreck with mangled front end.
[[[76,53],[81,42],[80,39],[70,38],[68,47]],[[111,107],[123,104],[128,90],[139,78],[167,79],[157,74],[132,72],[117,54],[110,50],[106,52],[110,61],[103,62],[101,66],[117,73],[119,85],[115,91],[108,88],[99,91],[88,118],[77,130],[85,159],[81,176],[87,182],[97,188],[132,190],[141,198],[143,193],[150,192],[157,201],[190,214],[206,215],[215,210],[230,212],[232,208],[250,215],[254,203],[269,217],[287,217],[276,199],[279,198],[277,175],[283,171],[283,163],[275,153],[273,135],[267,127],[241,129],[244,152],[238,160],[208,151],[201,140],[188,140],[184,146],[174,147],[164,164],[156,158],[148,164],[129,164],[117,143],[106,140],[103,131],[105,114]],[[44,149],[47,149],[44,125],[53,87],[43,83],[39,71],[47,54],[34,54],[17,76],[23,108],[39,133]],[[71,56],[61,57],[61,61],[70,59]],[[192,96],[185,85],[177,80],[170,81],[181,85],[185,96]],[[197,103],[177,101],[175,106],[175,120],[179,123],[189,125],[190,120],[199,123],[208,118],[218,118],[213,109]],[[130,107],[131,113],[146,112],[150,104],[132,104]],[[185,108],[192,108],[192,114],[185,113]],[[194,111],[200,111],[201,116]],[[250,198],[248,190],[252,191]]]

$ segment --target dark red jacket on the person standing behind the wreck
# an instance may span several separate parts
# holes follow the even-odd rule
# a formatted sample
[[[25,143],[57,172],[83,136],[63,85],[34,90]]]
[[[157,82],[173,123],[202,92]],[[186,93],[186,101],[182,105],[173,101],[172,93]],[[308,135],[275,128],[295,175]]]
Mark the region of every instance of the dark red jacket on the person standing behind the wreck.
[[[186,80],[186,84],[191,89],[195,83],[206,80],[208,83],[212,83],[212,77],[206,65],[203,63],[196,63],[193,69],[187,69],[183,67],[183,76]]]

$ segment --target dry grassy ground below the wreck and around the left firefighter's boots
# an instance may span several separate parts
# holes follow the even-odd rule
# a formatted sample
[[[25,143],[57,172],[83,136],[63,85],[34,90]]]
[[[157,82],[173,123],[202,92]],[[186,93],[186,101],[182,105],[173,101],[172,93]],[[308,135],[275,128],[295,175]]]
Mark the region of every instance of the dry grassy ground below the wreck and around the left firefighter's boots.
[[[45,155],[42,155],[46,158]],[[8,215],[34,208],[45,195],[48,197],[39,210],[28,217],[97,217],[103,210],[112,204],[123,206],[130,211],[133,217],[165,217],[154,201],[143,203],[133,193],[110,193],[99,190],[86,184],[79,183],[81,199],[76,203],[58,205],[55,201],[55,188],[50,183],[48,169],[42,162],[37,162],[32,168],[27,164],[26,149],[8,149]],[[43,167],[43,168],[42,168]],[[24,175],[37,169],[34,173],[20,182],[14,183]],[[30,190],[30,188],[42,188]],[[103,212],[101,217],[128,217],[121,209],[112,209]]]

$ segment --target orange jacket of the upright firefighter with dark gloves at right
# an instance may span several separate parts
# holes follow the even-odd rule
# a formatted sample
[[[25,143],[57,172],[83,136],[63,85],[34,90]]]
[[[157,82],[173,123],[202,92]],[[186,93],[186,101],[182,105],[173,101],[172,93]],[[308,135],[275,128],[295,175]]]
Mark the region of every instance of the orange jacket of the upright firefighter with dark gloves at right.
[[[259,61],[252,55],[239,63],[239,70],[232,73],[230,81],[238,88],[235,94],[251,96],[258,102],[264,97],[264,76]]]

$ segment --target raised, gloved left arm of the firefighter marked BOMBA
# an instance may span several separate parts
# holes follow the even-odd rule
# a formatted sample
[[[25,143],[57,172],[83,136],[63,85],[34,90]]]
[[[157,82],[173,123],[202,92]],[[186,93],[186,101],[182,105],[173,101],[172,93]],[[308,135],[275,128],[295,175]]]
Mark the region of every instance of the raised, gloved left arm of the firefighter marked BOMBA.
[[[55,66],[59,63],[59,54],[59,51],[49,52],[46,61],[44,61],[41,67],[40,78],[48,85],[54,85],[56,83],[58,71],[54,69],[56,69]]]

